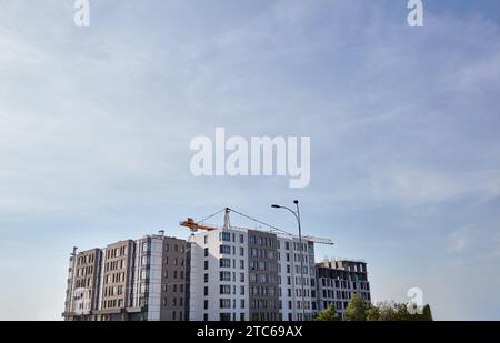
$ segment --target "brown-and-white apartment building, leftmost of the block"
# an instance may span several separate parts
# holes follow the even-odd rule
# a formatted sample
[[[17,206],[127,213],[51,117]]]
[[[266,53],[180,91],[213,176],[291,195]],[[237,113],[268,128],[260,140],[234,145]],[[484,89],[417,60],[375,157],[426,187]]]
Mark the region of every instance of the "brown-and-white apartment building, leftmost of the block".
[[[62,316],[69,321],[186,320],[186,244],[160,231],[73,252]]]

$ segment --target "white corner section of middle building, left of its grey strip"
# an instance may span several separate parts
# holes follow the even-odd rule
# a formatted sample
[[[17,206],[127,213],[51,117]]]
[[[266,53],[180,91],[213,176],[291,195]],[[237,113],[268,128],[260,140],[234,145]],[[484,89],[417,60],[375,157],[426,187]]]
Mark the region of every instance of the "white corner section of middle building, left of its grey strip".
[[[249,320],[248,234],[212,230],[191,235],[191,321]]]

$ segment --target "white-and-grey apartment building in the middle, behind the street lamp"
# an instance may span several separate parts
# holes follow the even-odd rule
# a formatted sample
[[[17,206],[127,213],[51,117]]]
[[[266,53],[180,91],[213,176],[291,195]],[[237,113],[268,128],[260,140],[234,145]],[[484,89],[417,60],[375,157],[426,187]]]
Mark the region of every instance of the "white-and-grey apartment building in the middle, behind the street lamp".
[[[192,234],[189,245],[190,320],[300,321],[318,311],[312,241],[231,228]]]

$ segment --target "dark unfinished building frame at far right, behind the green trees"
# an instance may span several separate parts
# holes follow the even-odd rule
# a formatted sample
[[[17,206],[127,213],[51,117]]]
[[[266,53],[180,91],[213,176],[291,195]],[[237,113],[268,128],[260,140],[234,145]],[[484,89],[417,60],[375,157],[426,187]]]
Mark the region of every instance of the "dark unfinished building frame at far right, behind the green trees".
[[[367,304],[371,302],[366,262],[326,260],[316,268],[319,310],[333,304],[339,316],[343,317],[348,303],[356,293],[360,294]]]

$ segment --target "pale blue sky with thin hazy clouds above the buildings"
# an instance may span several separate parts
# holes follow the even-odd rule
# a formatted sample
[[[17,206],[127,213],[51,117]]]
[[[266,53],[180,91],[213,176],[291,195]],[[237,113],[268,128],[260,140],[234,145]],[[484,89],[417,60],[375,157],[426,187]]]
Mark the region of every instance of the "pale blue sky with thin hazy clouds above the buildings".
[[[368,262],[374,301],[500,319],[500,3],[0,0],[0,320],[60,320],[69,253],[226,206]],[[196,178],[197,135],[311,137],[311,182]],[[218,219],[221,221],[221,219]],[[234,216],[232,223],[248,224]],[[221,222],[216,223],[221,224]]]

